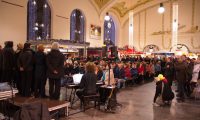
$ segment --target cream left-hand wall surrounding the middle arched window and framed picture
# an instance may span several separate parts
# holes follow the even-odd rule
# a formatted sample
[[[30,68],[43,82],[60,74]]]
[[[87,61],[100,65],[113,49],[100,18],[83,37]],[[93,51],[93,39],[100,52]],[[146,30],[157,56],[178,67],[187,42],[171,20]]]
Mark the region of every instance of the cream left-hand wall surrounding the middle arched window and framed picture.
[[[22,7],[0,1],[0,45],[3,46],[5,41],[12,40],[16,46],[27,39],[27,0],[6,1]],[[99,40],[90,38],[90,24],[101,26],[103,23],[100,22],[99,15],[89,0],[49,0],[49,4],[52,12],[52,39],[70,39],[70,15],[74,9],[80,9],[86,20],[85,40],[90,42],[92,47],[102,47],[103,32]]]

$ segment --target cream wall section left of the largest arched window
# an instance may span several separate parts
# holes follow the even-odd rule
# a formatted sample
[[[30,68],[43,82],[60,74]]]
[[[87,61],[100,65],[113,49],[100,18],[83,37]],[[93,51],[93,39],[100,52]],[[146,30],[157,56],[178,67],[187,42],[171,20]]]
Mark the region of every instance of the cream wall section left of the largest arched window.
[[[26,0],[7,0],[22,7],[13,6],[0,1],[0,45],[4,46],[5,41],[24,43],[26,40]]]

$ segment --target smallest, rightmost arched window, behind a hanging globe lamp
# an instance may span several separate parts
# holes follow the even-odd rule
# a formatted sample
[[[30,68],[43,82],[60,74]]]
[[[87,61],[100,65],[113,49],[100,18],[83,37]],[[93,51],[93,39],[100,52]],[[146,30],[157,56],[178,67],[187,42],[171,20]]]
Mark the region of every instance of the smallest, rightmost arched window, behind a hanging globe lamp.
[[[111,17],[104,21],[104,44],[115,45],[115,23]]]

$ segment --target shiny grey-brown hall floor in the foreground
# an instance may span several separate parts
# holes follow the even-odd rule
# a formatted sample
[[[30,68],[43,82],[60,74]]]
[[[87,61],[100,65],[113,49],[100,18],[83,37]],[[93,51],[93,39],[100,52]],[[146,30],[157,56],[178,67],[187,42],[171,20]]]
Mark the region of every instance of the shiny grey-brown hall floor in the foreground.
[[[152,100],[155,83],[121,90],[117,100],[122,104],[116,113],[106,113],[91,108],[69,116],[69,120],[200,120],[200,101],[186,100],[177,103],[174,99],[171,107],[153,107]],[[70,109],[70,113],[78,111]]]

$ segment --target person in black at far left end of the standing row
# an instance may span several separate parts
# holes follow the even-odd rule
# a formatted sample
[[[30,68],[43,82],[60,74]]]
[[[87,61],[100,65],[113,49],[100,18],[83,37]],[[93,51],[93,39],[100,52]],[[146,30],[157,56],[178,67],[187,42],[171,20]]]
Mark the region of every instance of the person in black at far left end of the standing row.
[[[2,81],[9,82],[13,80],[15,59],[14,59],[14,50],[13,42],[5,42],[5,47],[3,48],[3,63],[2,63]]]

